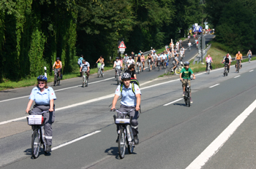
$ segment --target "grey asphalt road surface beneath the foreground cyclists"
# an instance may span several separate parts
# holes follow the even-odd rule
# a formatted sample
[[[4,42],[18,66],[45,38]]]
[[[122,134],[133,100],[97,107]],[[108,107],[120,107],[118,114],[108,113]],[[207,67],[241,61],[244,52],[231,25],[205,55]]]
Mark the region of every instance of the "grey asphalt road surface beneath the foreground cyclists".
[[[78,87],[78,78],[63,81],[59,88],[54,88],[61,90],[56,92],[53,152],[50,156],[40,154],[37,160],[31,160],[31,129],[25,119],[20,119],[0,125],[0,166],[191,168],[196,166],[193,161],[200,159],[203,168],[255,168],[255,109],[234,133],[227,133],[230,137],[215,155],[206,151],[209,160],[205,155],[200,157],[208,146],[217,147],[212,144],[214,140],[221,138],[218,136],[255,101],[256,79],[252,78],[255,63],[244,63],[239,74],[232,66],[226,77],[222,76],[222,69],[211,71],[209,75],[196,74],[196,80],[192,81],[194,103],[191,107],[184,106],[183,100],[177,101],[182,98],[177,76],[156,79],[163,71],[139,74],[143,112],[138,120],[140,144],[135,147],[135,153],[127,154],[124,160],[118,158],[116,126],[113,112],[108,108],[116,89],[116,81],[109,79],[113,71],[106,72],[104,79],[107,80],[102,82],[90,76],[90,82],[95,83],[85,88]],[[70,88],[64,90],[67,87]],[[27,94],[26,90],[30,93],[31,87],[10,90],[12,92],[4,93],[5,98],[1,97],[2,123],[22,117],[27,97],[4,100],[22,97]],[[80,140],[74,141],[76,138]]]

